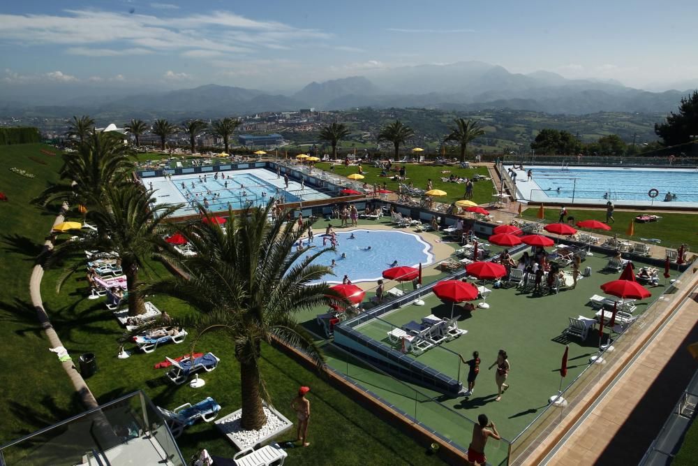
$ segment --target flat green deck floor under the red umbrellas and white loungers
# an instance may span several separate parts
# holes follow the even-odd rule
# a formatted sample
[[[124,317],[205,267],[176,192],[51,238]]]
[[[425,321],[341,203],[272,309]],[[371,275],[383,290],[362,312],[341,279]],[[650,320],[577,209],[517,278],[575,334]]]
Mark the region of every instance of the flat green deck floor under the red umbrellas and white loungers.
[[[565,344],[570,345],[570,354],[563,388],[588,366],[589,357],[596,354],[599,341],[596,331],[590,331],[587,341],[581,342],[574,337],[567,339],[563,336],[563,330],[567,328],[569,317],[594,316],[596,311],[588,303],[588,298],[594,294],[603,295],[600,285],[618,278],[619,275],[616,272],[611,274],[602,272],[607,261],[608,259],[604,256],[588,257],[582,265],[583,268],[590,266],[592,275],[580,279],[576,289],[560,289],[557,294],[543,296],[534,296],[532,293],[524,293],[516,288],[493,289],[487,297],[489,309],[478,308],[472,313],[465,313],[456,306],[454,314],[460,314],[459,328],[468,330],[468,333],[413,357],[454,379],[461,380],[464,385],[467,383],[468,368],[459,363],[457,354],[462,354],[467,360],[470,359],[473,351],[479,351],[482,364],[473,396],[456,399],[439,397],[440,402],[470,419],[477,418],[481,413],[487,414],[497,423],[501,435],[508,439],[516,437],[537,414],[547,407],[549,396],[558,391],[560,361],[565,351]],[[636,266],[639,265],[636,262]],[[675,270],[671,273],[672,278],[678,275]],[[487,286],[492,288],[491,283]],[[651,287],[652,297],[637,302],[637,310],[633,315],[645,312],[649,304],[665,289],[664,282],[660,286]],[[424,306],[406,305],[399,310],[383,314],[380,319],[373,319],[358,326],[357,330],[392,345],[387,338],[387,332],[392,326],[402,326],[411,320],[419,322],[422,317],[429,314],[440,317],[451,315],[451,305],[442,303],[433,294],[430,293],[423,299]],[[608,330],[604,330],[604,342],[608,333]],[[510,388],[505,392],[502,400],[496,402],[495,369],[488,370],[488,367],[496,360],[499,349],[507,351],[511,372],[508,380]],[[344,367],[347,366],[346,363],[339,365],[342,364]],[[342,367],[336,368],[342,370]],[[352,370],[352,367],[349,369]],[[399,382],[392,381],[391,385],[389,377],[386,377],[381,380],[381,383],[387,386],[376,387],[378,384],[370,375],[359,372],[357,368],[353,370],[358,372],[357,377],[367,380],[366,383],[370,385],[367,388],[371,391],[376,392],[376,389],[380,388],[376,393],[386,400],[394,402],[397,406],[408,406],[408,400],[403,400],[408,390],[404,387],[399,390],[390,388]],[[361,383],[361,379],[357,378],[357,381]],[[424,388],[416,389],[424,395],[433,394]],[[414,404],[413,400],[412,406]],[[429,403],[421,402],[419,408],[428,409],[425,405]],[[418,418],[439,432],[453,432],[449,425],[451,421],[443,423],[443,417],[437,415],[440,413],[439,409],[433,409],[433,413],[434,415],[431,415],[429,412],[422,411],[422,415]],[[462,425],[460,427],[462,428]],[[453,432],[452,435],[458,434]]]

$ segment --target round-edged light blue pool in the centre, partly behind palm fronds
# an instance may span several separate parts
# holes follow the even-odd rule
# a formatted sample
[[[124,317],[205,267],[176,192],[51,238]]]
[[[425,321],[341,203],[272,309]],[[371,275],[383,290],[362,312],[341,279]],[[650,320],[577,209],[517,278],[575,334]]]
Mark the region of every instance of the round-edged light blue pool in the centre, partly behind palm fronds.
[[[310,245],[322,248],[325,236],[320,233],[325,232],[315,233],[315,239]],[[355,235],[353,240],[349,239],[351,233]],[[316,263],[322,265],[330,265],[332,259],[336,262],[333,269],[335,276],[324,277],[327,283],[341,283],[344,275],[348,275],[352,283],[376,282],[382,277],[383,270],[390,268],[394,261],[398,261],[398,265],[410,267],[417,267],[420,262],[424,267],[433,262],[431,246],[414,233],[357,229],[338,231],[337,240],[339,245],[336,251],[326,252],[315,259]],[[304,242],[304,246],[307,244],[307,241]],[[327,247],[329,246],[327,238]],[[366,249],[369,246],[371,250]],[[346,259],[341,259],[342,253],[346,254]]]

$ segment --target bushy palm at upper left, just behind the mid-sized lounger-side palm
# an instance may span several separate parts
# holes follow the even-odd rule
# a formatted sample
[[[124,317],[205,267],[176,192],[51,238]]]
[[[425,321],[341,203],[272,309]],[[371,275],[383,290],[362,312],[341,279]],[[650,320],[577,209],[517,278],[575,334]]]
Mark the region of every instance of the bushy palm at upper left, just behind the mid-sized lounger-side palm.
[[[121,135],[91,131],[77,152],[63,154],[61,182],[50,184],[34,203],[48,205],[56,201],[90,207],[106,187],[129,182],[133,171],[133,151],[121,142]]]

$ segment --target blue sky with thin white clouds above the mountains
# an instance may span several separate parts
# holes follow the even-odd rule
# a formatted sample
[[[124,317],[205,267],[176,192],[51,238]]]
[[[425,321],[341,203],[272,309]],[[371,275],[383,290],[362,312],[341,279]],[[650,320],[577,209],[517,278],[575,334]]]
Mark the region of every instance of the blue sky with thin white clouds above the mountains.
[[[0,80],[270,90],[478,60],[647,87],[698,78],[698,2],[68,1],[0,6]]]

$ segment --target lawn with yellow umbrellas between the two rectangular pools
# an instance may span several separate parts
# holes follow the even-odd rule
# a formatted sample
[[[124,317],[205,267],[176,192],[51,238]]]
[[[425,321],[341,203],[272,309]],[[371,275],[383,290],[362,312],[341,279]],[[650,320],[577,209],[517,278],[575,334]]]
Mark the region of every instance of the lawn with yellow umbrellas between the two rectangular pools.
[[[449,177],[452,173],[458,177],[472,177],[475,173],[479,175],[489,176],[486,167],[477,168],[458,168],[456,166],[429,166],[429,165],[415,165],[415,164],[403,164],[396,163],[395,166],[405,165],[407,169],[406,176],[408,178],[407,182],[412,182],[416,188],[426,189],[426,182],[431,179],[433,182],[434,189],[441,189],[446,191],[447,195],[436,198],[436,201],[442,203],[452,203],[453,201],[458,201],[463,198],[463,194],[466,192],[465,184],[442,182],[441,177]],[[322,170],[329,170],[331,166],[330,163],[316,163],[315,166],[322,168]],[[389,177],[380,176],[380,168],[373,168],[369,164],[365,163],[362,165],[364,169],[365,178],[361,180],[373,186],[373,184],[380,184],[383,186],[385,182],[387,184],[387,189],[391,191],[398,192],[399,182],[390,180]],[[450,173],[441,173],[442,171],[450,171]],[[358,167],[350,166],[345,168],[343,165],[335,165],[334,173],[341,176],[348,176],[352,173],[358,173]],[[397,173],[392,173],[391,175],[396,175]],[[493,194],[493,184],[491,181],[482,180],[473,183],[473,201],[478,204],[489,203],[492,201]]]

